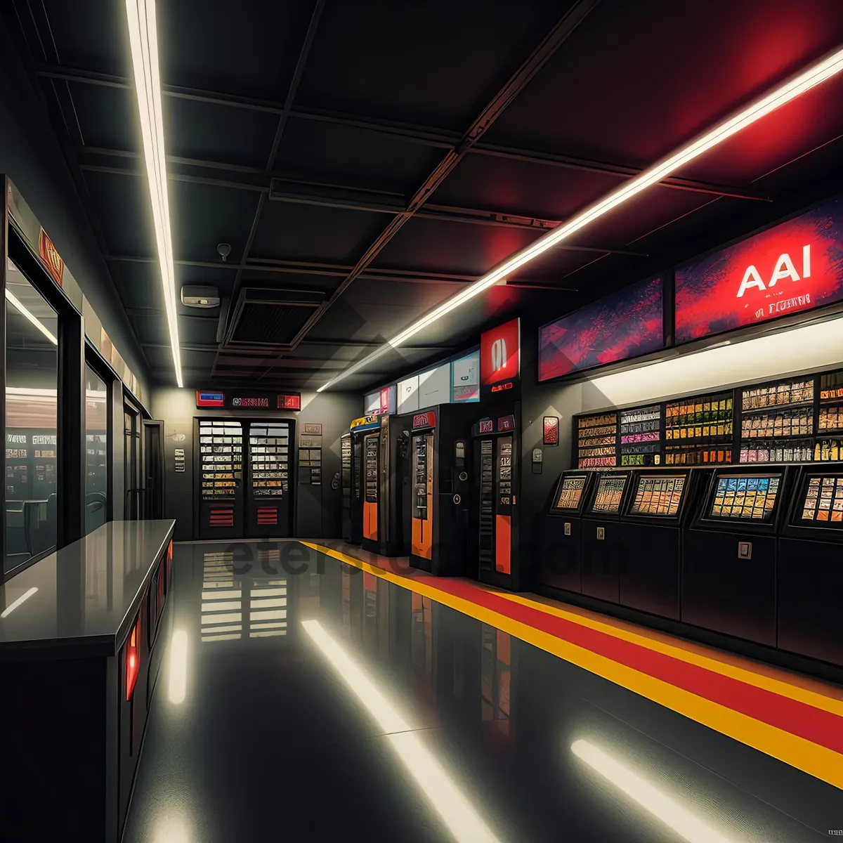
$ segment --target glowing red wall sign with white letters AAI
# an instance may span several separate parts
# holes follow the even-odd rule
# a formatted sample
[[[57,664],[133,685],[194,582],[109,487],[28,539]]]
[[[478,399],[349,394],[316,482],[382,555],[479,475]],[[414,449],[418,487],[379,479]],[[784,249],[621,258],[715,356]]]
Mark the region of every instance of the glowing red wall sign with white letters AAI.
[[[843,200],[676,271],[676,341],[843,299]]]

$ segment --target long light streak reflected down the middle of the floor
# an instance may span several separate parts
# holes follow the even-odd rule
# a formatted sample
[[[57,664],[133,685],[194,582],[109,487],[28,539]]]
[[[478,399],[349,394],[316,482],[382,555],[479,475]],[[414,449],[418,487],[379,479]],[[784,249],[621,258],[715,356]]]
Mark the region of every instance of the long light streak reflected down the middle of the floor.
[[[303,620],[302,627],[357,699],[366,706],[379,727],[387,733],[395,753],[424,792],[458,843],[498,843],[471,803],[464,797],[443,766],[421,743],[418,733],[401,717],[395,706],[369,679],[360,666],[318,620]]]

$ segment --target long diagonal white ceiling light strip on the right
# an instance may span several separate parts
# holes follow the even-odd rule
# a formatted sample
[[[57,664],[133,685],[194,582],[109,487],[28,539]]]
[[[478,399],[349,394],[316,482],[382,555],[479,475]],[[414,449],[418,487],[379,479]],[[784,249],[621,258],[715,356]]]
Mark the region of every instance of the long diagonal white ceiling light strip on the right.
[[[330,379],[327,384],[320,386],[316,391],[321,392],[323,389],[328,389],[338,381],[347,378],[350,374],[359,371],[364,366],[368,366],[370,362],[377,360],[391,349],[397,348],[402,343],[409,340],[411,336],[417,334],[420,330],[427,328],[428,325],[432,325],[432,323],[436,322],[437,319],[441,319],[445,314],[459,308],[461,304],[469,301],[470,298],[474,298],[476,295],[479,295],[489,287],[501,282],[505,277],[507,277],[507,275],[514,272],[521,266],[524,266],[524,264],[528,263],[530,260],[534,260],[534,258],[537,258],[539,255],[543,255],[547,250],[556,246],[556,244],[558,244],[561,240],[570,237],[581,228],[587,226],[588,223],[593,223],[594,220],[599,219],[599,217],[602,217],[613,208],[629,201],[633,196],[637,196],[642,191],[647,190],[648,187],[658,184],[659,181],[666,179],[668,175],[671,175],[676,172],[676,170],[684,167],[685,164],[693,161],[694,158],[698,158],[703,153],[706,153],[708,150],[716,147],[718,143],[722,143],[729,137],[732,137],[740,132],[742,129],[745,129],[747,126],[751,126],[755,121],[758,121],[765,115],[770,114],[771,111],[774,111],[777,108],[780,108],[781,105],[785,105],[792,99],[795,99],[799,96],[799,94],[804,94],[806,91],[816,87],[820,83],[823,83],[826,79],[830,79],[841,70],[843,70],[843,49],[831,53],[830,56],[826,56],[821,61],[813,64],[811,67],[808,67],[807,70],[798,73],[796,76],[790,78],[786,83],[783,83],[776,89],[773,89],[771,93],[765,94],[765,96],[755,100],[752,105],[739,110],[732,117],[729,117],[728,120],[717,124],[717,126],[713,129],[697,137],[694,141],[686,144],[678,151],[668,155],[667,158],[663,158],[658,162],[658,164],[653,164],[650,169],[646,169],[641,175],[637,175],[636,178],[627,181],[617,190],[604,196],[603,199],[596,201],[593,205],[586,208],[583,212],[578,213],[576,217],[573,217],[567,223],[554,228],[552,231],[536,240],[533,244],[530,244],[525,249],[516,252],[511,257],[507,258],[507,260],[505,260],[500,266],[497,266],[496,269],[486,273],[485,276],[475,281],[469,287],[465,287],[465,289],[461,292],[451,298],[448,298],[448,300],[440,304],[438,308],[433,309],[429,314],[427,314],[427,316],[423,316],[421,319],[418,319],[410,325],[409,328],[401,331],[400,334],[384,343],[383,346],[375,349],[375,351],[367,357],[363,357],[362,360],[358,360],[356,363],[352,363],[352,365],[348,368],[343,369],[343,371],[336,374],[336,376]]]

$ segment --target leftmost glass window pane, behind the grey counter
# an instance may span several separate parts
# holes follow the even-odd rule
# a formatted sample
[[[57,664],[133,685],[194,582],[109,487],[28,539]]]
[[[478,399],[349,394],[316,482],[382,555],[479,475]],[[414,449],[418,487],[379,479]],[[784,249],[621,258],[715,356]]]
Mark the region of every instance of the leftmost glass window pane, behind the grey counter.
[[[56,545],[58,316],[6,273],[6,537],[9,570]]]

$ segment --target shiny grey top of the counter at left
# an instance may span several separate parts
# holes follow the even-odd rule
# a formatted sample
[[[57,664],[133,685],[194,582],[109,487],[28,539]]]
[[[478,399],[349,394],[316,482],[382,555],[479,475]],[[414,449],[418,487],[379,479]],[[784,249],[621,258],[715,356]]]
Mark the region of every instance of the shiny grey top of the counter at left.
[[[110,521],[0,586],[0,655],[114,655],[175,521]]]

